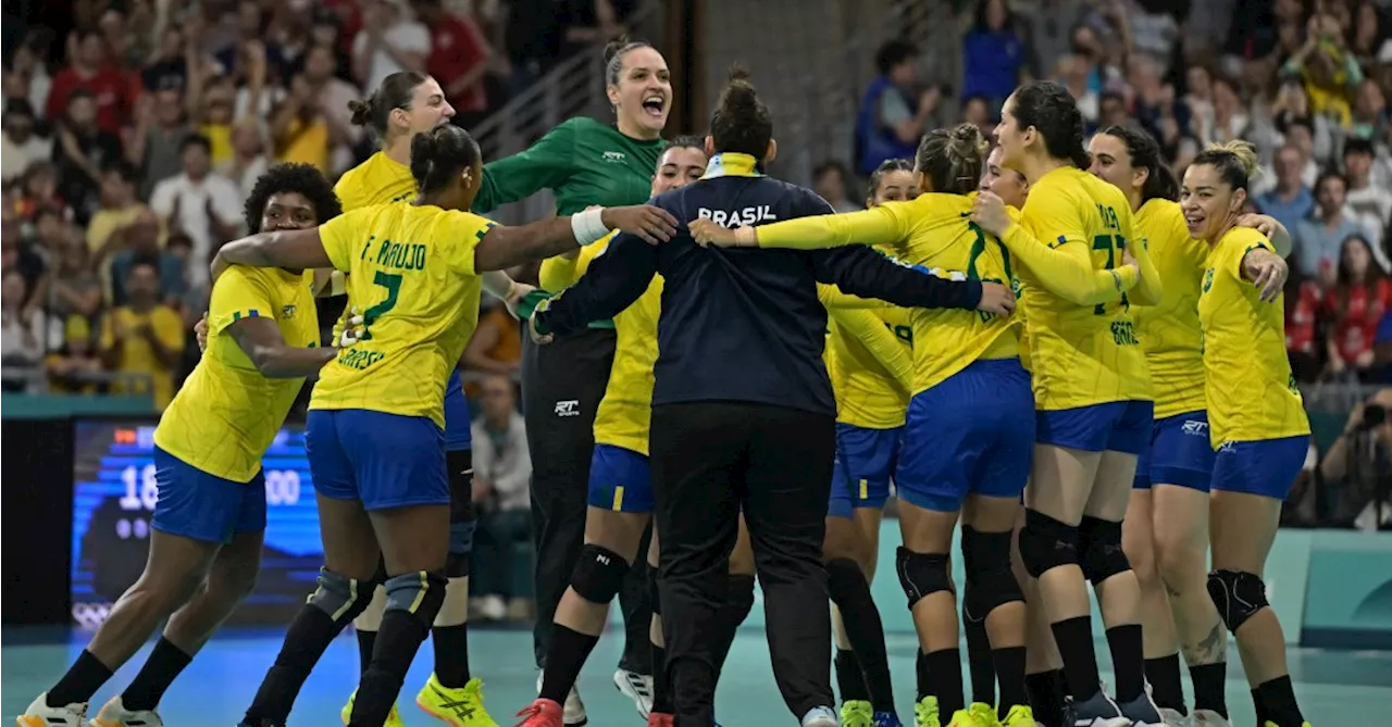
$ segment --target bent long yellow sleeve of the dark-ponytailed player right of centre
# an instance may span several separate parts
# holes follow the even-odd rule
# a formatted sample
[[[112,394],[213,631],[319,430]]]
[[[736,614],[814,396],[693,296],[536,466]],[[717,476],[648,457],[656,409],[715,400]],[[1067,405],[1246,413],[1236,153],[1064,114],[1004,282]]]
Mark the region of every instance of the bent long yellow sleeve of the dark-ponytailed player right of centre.
[[[1045,245],[1043,234],[1048,235]],[[1038,279],[1040,285],[1079,306],[1121,300],[1136,285],[1136,272],[1093,268],[1091,240],[1069,199],[1051,188],[1034,189],[1025,202],[1020,224],[1001,242]],[[1139,260],[1137,260],[1139,263]]]

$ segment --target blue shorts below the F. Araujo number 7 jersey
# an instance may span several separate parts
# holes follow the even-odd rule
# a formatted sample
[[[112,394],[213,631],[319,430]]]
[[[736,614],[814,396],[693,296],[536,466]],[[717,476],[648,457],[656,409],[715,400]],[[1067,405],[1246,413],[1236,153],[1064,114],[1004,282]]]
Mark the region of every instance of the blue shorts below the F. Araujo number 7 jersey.
[[[313,409],[305,455],[315,491],[366,510],[450,505],[444,432],[430,417],[366,409]]]

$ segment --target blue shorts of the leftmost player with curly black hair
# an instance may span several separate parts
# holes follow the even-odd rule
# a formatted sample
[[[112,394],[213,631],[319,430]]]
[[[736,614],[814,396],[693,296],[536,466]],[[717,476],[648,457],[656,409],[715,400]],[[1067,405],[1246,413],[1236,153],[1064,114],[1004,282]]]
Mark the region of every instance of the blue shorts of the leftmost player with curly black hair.
[[[160,499],[150,527],[195,541],[226,544],[238,532],[266,530],[266,474],[234,482],[207,474],[155,448],[155,484]]]

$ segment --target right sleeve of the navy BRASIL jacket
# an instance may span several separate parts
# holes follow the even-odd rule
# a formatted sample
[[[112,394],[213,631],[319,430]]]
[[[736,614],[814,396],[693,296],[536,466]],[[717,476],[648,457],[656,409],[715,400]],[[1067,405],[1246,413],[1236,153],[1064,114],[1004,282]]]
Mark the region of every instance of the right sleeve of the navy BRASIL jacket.
[[[896,263],[884,253],[860,245],[814,250],[813,274],[818,282],[835,284],[842,292],[878,297],[910,309],[965,309],[981,302],[979,281],[949,281],[922,267]]]

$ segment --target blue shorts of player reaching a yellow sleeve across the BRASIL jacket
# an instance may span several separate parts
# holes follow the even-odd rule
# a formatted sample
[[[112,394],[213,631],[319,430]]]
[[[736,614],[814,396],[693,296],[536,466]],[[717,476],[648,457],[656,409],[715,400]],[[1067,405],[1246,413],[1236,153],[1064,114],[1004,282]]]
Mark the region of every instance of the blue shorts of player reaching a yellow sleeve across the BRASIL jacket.
[[[1034,395],[1019,359],[974,361],[909,400],[899,499],[940,513],[969,493],[1019,498],[1034,455]]]

